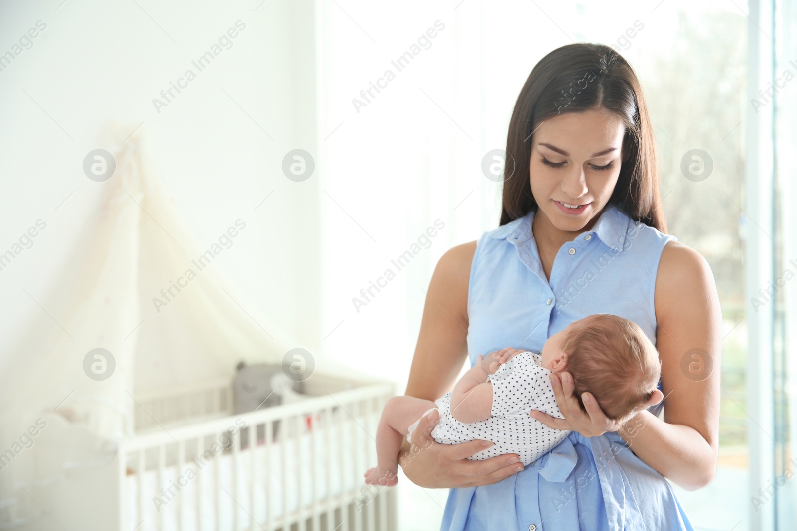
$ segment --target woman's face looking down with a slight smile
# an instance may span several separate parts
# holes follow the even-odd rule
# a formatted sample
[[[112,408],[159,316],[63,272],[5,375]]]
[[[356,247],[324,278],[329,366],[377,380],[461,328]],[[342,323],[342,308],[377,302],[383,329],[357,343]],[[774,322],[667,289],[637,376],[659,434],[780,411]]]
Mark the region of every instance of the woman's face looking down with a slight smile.
[[[617,183],[625,132],[622,119],[605,109],[541,123],[528,168],[538,213],[563,231],[589,230]]]

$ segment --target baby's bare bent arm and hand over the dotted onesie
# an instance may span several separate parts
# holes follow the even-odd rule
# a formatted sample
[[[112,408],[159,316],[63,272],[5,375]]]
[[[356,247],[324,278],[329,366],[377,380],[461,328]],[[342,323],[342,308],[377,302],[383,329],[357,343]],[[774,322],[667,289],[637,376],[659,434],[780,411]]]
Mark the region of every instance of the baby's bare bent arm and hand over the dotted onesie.
[[[465,373],[451,392],[451,416],[469,424],[487,420],[493,411],[493,385],[487,376],[495,373],[502,363],[523,350],[506,348],[489,353]]]

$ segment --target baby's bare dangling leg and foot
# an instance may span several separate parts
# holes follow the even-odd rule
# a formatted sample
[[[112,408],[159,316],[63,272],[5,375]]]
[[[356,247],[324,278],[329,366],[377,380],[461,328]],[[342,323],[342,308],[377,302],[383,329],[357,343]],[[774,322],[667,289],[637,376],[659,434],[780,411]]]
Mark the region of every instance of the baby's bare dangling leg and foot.
[[[415,396],[391,396],[385,404],[379,427],[376,428],[376,464],[367,470],[365,482],[370,485],[391,486],[398,482],[398,451],[409,432],[410,424],[418,420],[424,412],[435,408],[431,400]]]

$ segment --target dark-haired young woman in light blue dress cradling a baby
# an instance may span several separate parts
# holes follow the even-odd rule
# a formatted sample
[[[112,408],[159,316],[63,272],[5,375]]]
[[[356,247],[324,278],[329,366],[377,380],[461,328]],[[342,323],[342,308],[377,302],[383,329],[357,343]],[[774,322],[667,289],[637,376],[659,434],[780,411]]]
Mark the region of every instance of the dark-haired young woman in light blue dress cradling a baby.
[[[435,400],[466,356],[540,352],[571,322],[607,313],[657,346],[665,398],[619,425],[589,393],[583,413],[571,375],[554,376],[565,418],[529,414],[573,432],[525,468],[516,455],[466,459],[485,441],[435,443],[432,412],[398,458],[419,486],[451,488],[442,530],[693,529],[665,478],[694,490],[714,476],[720,306],[709,265],[666,235],[660,203],[633,69],[605,45],[549,53],[512,111],[501,226],[440,259],[406,394]]]

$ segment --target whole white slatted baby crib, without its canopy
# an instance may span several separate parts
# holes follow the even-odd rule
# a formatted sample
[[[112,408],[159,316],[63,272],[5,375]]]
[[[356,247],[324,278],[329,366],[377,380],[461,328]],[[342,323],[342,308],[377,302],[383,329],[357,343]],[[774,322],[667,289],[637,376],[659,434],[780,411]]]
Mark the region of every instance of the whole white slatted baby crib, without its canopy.
[[[48,515],[25,529],[395,531],[395,489],[363,482],[394,385],[316,373],[304,392],[235,416],[226,379],[135,396],[136,436],[37,488]]]

